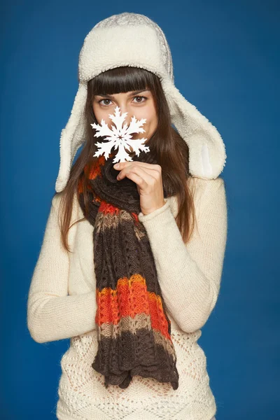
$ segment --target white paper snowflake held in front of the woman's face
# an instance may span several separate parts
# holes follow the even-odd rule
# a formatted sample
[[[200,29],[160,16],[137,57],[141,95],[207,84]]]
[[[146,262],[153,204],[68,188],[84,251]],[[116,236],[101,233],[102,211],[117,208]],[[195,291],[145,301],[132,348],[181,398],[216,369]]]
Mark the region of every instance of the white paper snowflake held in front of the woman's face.
[[[112,125],[111,129],[103,119],[101,120],[101,125],[95,123],[91,124],[92,128],[97,130],[97,132],[94,134],[94,137],[107,136],[104,140],[108,140],[102,143],[97,142],[95,144],[99,150],[95,152],[93,156],[98,157],[104,153],[105,159],[108,159],[111,153],[111,149],[114,148],[116,150],[118,148],[118,153],[113,160],[113,163],[117,163],[133,160],[129,153],[125,151],[125,149],[130,150],[130,146],[137,154],[137,156],[139,156],[140,151],[150,151],[150,148],[144,145],[147,139],[133,140],[131,135],[133,133],[145,132],[144,128],[141,128],[141,126],[146,123],[146,118],[142,118],[141,120],[137,121],[137,119],[133,116],[130,125],[127,127],[127,123],[123,125],[126,116],[127,112],[120,115],[120,108],[116,106],[115,115],[109,115],[109,118],[111,118],[115,124],[115,126]]]

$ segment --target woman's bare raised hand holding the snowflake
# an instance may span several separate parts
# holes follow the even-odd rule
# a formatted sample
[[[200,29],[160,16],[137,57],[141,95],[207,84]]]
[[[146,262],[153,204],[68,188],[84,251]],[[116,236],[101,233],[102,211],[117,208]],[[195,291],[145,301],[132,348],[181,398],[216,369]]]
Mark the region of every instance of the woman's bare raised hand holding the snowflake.
[[[113,168],[120,170],[118,181],[126,176],[137,184],[141,212],[145,216],[165,205],[160,165],[133,161],[116,163]]]

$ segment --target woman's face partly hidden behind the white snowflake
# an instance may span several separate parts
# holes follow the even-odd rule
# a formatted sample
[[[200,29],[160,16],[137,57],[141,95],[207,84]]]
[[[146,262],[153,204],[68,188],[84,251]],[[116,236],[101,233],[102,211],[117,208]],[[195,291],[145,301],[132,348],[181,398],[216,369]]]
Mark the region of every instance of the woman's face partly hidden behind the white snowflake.
[[[158,116],[155,108],[155,100],[150,90],[94,96],[92,107],[99,125],[101,125],[101,120],[103,119],[109,128],[111,128],[113,121],[109,118],[109,114],[114,114],[116,106],[119,106],[120,113],[127,112],[124,124],[127,123],[129,125],[133,116],[137,120],[146,118],[146,123],[142,126],[145,132],[132,134],[132,139],[151,138],[158,126]],[[134,153],[131,151],[130,154],[133,155]]]

